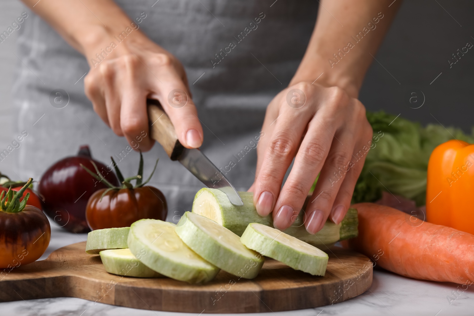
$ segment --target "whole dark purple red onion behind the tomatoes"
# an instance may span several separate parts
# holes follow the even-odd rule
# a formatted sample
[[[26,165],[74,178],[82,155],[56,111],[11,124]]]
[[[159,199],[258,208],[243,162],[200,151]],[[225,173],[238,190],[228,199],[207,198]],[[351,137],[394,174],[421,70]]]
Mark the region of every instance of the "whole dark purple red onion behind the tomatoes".
[[[53,218],[58,226],[73,233],[89,232],[86,222],[86,205],[91,195],[100,189],[106,188],[100,181],[94,179],[82,167],[94,170],[91,163],[89,146],[79,148],[77,156],[66,157],[51,167],[43,174],[39,181],[38,192],[43,199],[43,210],[46,215]],[[115,186],[118,179],[111,167],[96,160],[102,175]]]

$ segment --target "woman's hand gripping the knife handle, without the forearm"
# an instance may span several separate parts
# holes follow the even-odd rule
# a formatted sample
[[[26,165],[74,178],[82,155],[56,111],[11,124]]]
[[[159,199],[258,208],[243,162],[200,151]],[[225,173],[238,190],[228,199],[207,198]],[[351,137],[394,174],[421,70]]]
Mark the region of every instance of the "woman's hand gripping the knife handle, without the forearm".
[[[84,53],[91,67],[84,78],[85,94],[115,134],[125,136],[134,149],[140,140],[140,149],[149,150],[154,141],[149,137],[146,99],[157,99],[181,144],[201,146],[202,127],[186,73],[176,57],[139,29],[133,29],[121,42],[116,36],[94,35]]]

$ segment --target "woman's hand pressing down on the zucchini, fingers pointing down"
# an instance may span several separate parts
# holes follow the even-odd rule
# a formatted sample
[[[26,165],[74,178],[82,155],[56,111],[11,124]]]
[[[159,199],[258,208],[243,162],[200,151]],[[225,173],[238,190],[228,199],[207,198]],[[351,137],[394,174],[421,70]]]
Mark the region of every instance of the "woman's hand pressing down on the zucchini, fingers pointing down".
[[[339,87],[302,81],[270,102],[262,130],[249,189],[257,212],[273,212],[274,226],[288,228],[320,173],[306,207],[306,229],[315,234],[328,217],[340,223],[371,145],[373,132],[364,105]]]

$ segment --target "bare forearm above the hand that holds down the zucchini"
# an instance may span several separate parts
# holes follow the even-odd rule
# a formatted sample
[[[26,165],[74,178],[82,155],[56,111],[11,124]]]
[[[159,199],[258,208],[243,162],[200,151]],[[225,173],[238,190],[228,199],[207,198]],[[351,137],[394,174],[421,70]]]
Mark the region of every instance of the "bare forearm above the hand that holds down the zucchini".
[[[306,53],[290,85],[316,81],[356,98],[365,72],[390,27],[401,0],[321,0]]]

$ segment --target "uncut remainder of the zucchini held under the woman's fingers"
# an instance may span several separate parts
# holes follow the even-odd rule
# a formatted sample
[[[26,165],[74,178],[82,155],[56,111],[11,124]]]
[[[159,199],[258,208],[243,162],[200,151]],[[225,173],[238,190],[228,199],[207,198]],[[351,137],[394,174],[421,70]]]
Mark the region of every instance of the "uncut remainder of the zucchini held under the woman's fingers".
[[[227,195],[218,189],[203,188],[196,193],[192,204],[192,212],[208,217],[216,223],[228,228],[241,236],[250,223],[259,223],[273,227],[272,215],[261,217],[258,215],[252,192],[238,192],[243,206],[230,203]],[[306,202],[305,202],[306,205]],[[303,206],[304,208],[305,206]],[[346,218],[349,217],[349,220]],[[341,224],[326,221],[323,228],[312,235],[304,226],[304,212],[300,212],[292,226],[283,232],[292,235],[308,244],[326,249],[339,240],[352,238],[357,235],[357,210],[350,208]]]

